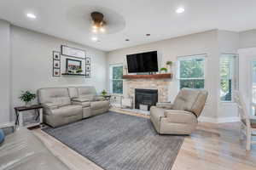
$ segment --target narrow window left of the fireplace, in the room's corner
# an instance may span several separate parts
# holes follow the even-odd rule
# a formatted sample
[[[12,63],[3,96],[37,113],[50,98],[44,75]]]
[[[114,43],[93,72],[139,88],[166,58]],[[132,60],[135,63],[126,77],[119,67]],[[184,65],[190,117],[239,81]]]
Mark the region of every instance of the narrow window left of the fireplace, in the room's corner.
[[[123,94],[123,65],[110,65],[110,92]]]

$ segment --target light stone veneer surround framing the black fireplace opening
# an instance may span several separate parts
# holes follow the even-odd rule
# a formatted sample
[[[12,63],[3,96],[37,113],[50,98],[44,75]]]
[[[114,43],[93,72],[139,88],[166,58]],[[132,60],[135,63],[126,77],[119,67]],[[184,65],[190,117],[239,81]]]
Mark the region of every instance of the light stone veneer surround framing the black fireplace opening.
[[[130,79],[125,80],[127,95],[135,99],[135,88],[158,89],[158,102],[168,101],[170,80],[166,79]]]

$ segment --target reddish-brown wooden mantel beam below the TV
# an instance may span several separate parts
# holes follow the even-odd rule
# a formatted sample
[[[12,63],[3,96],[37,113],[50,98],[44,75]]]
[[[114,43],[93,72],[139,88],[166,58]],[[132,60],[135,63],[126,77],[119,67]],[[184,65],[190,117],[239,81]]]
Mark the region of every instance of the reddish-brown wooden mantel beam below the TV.
[[[153,75],[124,75],[123,79],[172,79],[172,73]]]

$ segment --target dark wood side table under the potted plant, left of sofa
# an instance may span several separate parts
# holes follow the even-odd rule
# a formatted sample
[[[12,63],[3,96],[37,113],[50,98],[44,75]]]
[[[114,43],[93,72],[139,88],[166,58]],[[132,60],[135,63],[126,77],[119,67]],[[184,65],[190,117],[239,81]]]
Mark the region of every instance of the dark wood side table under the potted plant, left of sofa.
[[[35,111],[35,114],[37,114],[36,120],[39,122],[31,123],[29,125],[26,125],[26,127],[35,127],[40,125],[43,122],[43,106],[42,105],[31,105],[31,106],[19,106],[15,107],[15,125],[23,127],[23,117],[20,115],[22,111]]]

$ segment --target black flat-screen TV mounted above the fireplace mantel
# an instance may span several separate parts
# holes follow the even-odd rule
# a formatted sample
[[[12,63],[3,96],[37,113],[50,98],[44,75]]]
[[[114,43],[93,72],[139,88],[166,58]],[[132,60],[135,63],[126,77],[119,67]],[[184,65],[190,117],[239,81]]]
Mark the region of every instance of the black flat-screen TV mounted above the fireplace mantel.
[[[128,72],[157,72],[157,51],[126,55]]]

